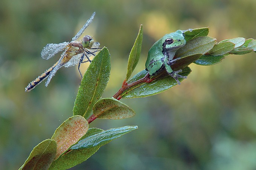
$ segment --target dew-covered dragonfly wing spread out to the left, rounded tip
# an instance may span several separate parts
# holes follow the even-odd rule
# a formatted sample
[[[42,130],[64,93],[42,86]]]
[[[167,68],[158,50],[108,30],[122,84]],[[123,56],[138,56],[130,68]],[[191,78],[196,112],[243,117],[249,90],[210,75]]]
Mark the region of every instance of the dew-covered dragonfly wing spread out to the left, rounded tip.
[[[41,52],[41,56],[43,59],[50,59],[52,58],[56,53],[61,52],[62,50],[64,50],[67,45],[69,44],[69,42],[63,42],[63,43],[59,43],[59,44],[47,44],[42,52]]]

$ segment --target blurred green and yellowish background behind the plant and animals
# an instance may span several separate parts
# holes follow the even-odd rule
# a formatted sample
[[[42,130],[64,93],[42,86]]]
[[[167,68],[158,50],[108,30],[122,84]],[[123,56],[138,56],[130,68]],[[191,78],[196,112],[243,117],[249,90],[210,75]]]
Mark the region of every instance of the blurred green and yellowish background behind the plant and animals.
[[[126,75],[130,49],[143,24],[142,54],[166,33],[210,27],[209,36],[256,39],[256,0],[1,0],[0,169],[19,168],[38,143],[72,116],[77,66],[61,68],[49,86],[27,84],[58,59],[40,57],[47,43],[70,41],[90,15],[91,35],[108,47],[111,97]],[[82,66],[82,72],[87,65]],[[95,120],[90,127],[139,129],[101,147],[72,169],[256,169],[256,54],[227,56],[220,64],[191,64],[180,86],[156,96],[121,101],[136,111],[125,120]]]

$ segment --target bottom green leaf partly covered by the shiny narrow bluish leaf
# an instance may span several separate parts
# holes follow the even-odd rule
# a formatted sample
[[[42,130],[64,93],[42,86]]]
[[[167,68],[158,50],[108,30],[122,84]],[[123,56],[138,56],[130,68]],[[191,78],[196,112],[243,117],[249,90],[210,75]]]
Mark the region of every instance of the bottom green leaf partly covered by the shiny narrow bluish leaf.
[[[81,140],[102,131],[102,129],[90,128]],[[50,170],[65,170],[80,164],[90,158],[90,156],[97,152],[99,148],[100,146],[95,146],[92,148],[69,150],[52,162]]]

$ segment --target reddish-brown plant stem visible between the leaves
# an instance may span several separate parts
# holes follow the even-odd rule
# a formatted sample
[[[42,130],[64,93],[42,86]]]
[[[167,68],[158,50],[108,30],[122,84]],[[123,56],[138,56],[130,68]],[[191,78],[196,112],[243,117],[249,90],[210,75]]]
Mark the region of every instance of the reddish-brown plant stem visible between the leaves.
[[[147,73],[142,79],[139,79],[135,82],[132,82],[130,84],[128,84],[126,82],[126,79],[123,80],[123,83],[122,83],[122,87],[117,91],[116,94],[114,94],[114,98],[117,99],[117,100],[120,100],[122,99],[122,96],[120,96],[124,91],[128,90],[129,88],[131,87],[134,87],[136,85],[139,85],[141,83],[150,83],[152,82],[154,79],[150,79],[150,76],[149,76],[149,73]],[[91,117],[88,118],[87,122],[90,124],[93,120],[95,120],[97,117],[95,117],[94,115],[91,115]]]

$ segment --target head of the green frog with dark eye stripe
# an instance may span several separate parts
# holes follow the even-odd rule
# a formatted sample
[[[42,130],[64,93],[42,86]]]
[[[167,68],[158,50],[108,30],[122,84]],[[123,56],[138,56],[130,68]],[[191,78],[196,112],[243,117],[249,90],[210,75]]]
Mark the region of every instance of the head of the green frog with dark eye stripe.
[[[163,48],[166,50],[178,50],[186,44],[183,31],[168,33],[162,38]]]

